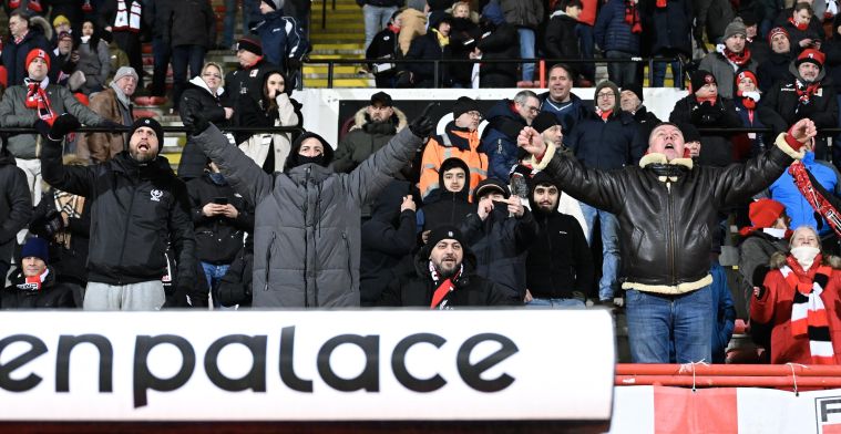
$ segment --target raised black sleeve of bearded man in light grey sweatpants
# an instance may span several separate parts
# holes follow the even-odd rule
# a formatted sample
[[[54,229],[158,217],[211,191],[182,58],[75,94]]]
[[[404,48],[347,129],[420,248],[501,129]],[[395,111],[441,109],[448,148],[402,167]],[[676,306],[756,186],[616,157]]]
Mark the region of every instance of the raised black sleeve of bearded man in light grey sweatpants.
[[[61,142],[43,141],[41,149],[41,173],[47,184],[53,188],[92,199],[95,172],[94,166],[65,166],[61,159]]]

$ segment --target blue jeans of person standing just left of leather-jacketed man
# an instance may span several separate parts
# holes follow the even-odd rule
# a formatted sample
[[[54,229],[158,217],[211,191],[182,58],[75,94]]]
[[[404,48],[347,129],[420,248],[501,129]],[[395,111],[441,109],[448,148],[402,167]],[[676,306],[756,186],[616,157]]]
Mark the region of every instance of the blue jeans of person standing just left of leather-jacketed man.
[[[598,299],[613,300],[616,289],[616,275],[619,271],[619,221],[611,213],[582,203],[581,211],[589,228],[589,242],[593,242],[593,227],[598,218],[602,228],[602,280],[598,281]]]

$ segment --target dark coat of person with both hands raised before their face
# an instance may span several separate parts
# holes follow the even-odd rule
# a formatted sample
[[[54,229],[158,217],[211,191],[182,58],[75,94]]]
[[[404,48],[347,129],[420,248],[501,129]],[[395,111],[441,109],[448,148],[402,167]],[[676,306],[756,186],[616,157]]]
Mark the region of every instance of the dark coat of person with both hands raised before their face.
[[[522,303],[526,288],[525,258],[537,237],[537,223],[532,213],[525,209],[521,217],[509,217],[506,205],[494,204],[484,221],[478,214],[470,214],[460,229],[476,255],[476,273]]]

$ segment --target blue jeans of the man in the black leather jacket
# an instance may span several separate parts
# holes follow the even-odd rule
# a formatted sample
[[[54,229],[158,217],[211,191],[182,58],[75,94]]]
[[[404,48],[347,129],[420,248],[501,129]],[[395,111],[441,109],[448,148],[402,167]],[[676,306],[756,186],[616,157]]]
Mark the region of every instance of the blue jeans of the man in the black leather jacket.
[[[716,312],[709,286],[679,296],[628,289],[625,314],[634,363],[670,363],[673,345],[677,363],[710,362]]]

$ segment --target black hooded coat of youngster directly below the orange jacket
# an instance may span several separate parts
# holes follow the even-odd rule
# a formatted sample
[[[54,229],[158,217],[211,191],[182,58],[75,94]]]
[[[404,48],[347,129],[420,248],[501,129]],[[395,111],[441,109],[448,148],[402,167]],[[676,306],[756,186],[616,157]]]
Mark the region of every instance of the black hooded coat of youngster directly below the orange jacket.
[[[458,166],[469,173],[468,164],[460,158],[444,159],[443,167]],[[452,167],[450,167],[452,168]],[[444,170],[438,170],[438,185],[444,185]],[[437,188],[423,199],[423,208],[418,211],[418,221],[422,230],[432,230],[442,225],[459,226],[469,214],[475,213],[475,206],[470,203],[470,183],[464,183],[461,192],[450,192]]]

